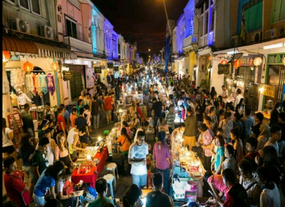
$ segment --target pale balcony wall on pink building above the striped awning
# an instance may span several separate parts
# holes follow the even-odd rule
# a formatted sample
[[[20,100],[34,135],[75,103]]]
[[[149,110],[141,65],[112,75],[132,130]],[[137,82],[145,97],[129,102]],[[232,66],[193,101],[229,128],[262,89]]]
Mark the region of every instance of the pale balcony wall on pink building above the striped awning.
[[[82,40],[70,37],[70,36],[66,36],[63,39],[64,39],[64,43],[66,45],[69,45],[70,49],[72,51],[78,51],[78,52],[92,53],[93,54],[91,43],[87,43],[87,42],[84,42]]]

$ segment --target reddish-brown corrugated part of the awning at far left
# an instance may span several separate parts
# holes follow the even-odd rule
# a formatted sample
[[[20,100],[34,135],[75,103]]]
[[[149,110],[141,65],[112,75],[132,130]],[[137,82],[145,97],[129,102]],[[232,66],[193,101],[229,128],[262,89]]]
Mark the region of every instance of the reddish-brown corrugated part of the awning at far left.
[[[3,36],[2,47],[3,51],[38,54],[37,46],[33,42],[15,37]]]

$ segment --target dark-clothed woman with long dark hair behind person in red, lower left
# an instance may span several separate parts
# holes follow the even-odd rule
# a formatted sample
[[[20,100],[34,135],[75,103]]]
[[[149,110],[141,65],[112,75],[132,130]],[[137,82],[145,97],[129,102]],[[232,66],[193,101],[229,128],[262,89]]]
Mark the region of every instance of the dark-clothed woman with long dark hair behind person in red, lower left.
[[[29,194],[30,197],[33,198],[32,196],[35,187],[35,174],[29,158],[35,151],[35,147],[31,145],[31,138],[32,137],[30,134],[22,135],[19,155],[22,159],[22,170],[29,178]]]

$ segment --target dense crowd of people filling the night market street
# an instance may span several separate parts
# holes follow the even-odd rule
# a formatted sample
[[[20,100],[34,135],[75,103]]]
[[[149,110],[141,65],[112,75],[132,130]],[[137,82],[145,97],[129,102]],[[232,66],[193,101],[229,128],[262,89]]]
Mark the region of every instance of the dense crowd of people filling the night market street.
[[[151,68],[141,68],[121,78],[109,76],[107,86],[101,82],[94,88],[93,97],[90,91],[81,92],[71,114],[61,104],[56,117],[50,104],[46,103],[38,143],[30,106],[24,105],[20,116],[25,134],[22,135],[19,157],[29,187],[17,170],[13,131],[3,118],[4,184],[10,200],[18,206],[27,206],[31,199],[37,206],[46,205],[48,190],[49,202],[57,198],[64,206],[79,205],[79,198],[63,194],[64,186],[71,179],[72,163],[80,151],[84,152],[85,147],[93,143],[92,130],[116,120],[114,112],[127,91],[143,93],[147,100],[147,115],[143,114],[139,103],[133,101],[122,116],[117,151],[128,154],[134,183],[123,198],[124,207],[140,203],[140,189],[147,185],[149,145],[145,141],[145,132],[149,126],[154,128],[157,136],[152,153],[157,173],[153,175],[154,191],[147,195],[147,207],[159,206],[161,202],[174,206],[169,198],[168,180],[171,146],[166,133],[159,130],[161,126],[167,126],[172,135],[180,134],[189,150],[202,149],[201,160],[207,171],[205,178],[219,204],[280,206],[281,180],[284,195],[285,112],[280,112],[279,103],[275,104],[269,125],[263,123],[262,113],[255,114],[257,122],[254,125],[254,117],[240,89],[236,91],[235,101],[229,102],[229,92],[224,85],[222,95],[218,95],[214,87],[211,91],[196,87],[190,76],[164,74]],[[176,116],[180,118],[179,124],[174,122]],[[95,187],[98,198],[88,206],[114,204],[106,198],[106,180],[97,179]],[[25,196],[19,197],[20,192],[26,192]]]

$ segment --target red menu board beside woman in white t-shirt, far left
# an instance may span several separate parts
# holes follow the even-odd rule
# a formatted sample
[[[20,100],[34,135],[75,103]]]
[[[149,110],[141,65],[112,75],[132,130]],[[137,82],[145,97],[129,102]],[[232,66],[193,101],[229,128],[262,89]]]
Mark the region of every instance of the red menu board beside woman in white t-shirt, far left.
[[[13,130],[12,142],[15,146],[16,152],[19,152],[19,147],[21,143],[22,134],[24,132],[22,127],[22,121],[20,118],[20,113],[9,114],[8,116],[9,128]]]

